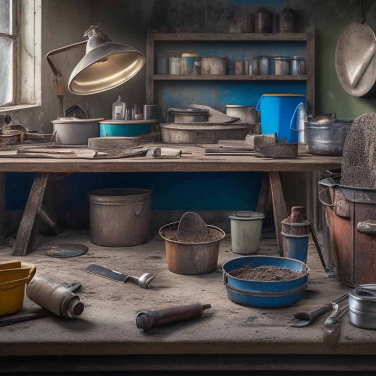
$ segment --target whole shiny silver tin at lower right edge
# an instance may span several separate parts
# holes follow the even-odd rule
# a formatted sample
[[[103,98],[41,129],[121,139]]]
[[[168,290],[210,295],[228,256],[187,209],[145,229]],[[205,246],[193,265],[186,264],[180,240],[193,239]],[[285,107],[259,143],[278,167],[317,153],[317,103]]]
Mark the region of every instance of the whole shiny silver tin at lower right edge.
[[[355,327],[376,329],[376,284],[362,284],[349,293],[349,318]]]

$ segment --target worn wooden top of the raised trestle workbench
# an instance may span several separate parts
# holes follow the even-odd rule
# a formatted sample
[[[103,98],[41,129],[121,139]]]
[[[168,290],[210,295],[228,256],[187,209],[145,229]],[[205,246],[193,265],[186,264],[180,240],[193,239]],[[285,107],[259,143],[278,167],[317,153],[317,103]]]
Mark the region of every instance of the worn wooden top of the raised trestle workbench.
[[[341,167],[341,157],[312,155],[304,146],[299,147],[297,158],[259,158],[254,153],[247,155],[232,152],[213,154],[206,149],[217,144],[206,145],[167,145],[183,151],[179,159],[147,158],[133,156],[127,158],[55,158],[41,157],[42,153],[29,153],[27,158],[16,156],[14,150],[0,152],[2,172],[179,172],[179,171],[326,171]],[[62,150],[63,148],[55,148]],[[81,150],[82,147],[66,149]],[[47,150],[47,149],[46,149]],[[88,151],[85,149],[84,151]],[[103,150],[105,152],[106,150]],[[6,153],[11,153],[4,157]],[[32,155],[31,155],[32,154]],[[22,156],[22,154],[20,154]]]

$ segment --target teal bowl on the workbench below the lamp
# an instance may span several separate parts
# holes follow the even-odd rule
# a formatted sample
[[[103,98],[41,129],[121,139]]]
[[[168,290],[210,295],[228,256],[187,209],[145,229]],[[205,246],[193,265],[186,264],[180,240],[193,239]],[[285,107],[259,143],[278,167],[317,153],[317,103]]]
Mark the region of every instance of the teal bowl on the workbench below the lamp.
[[[158,120],[103,120],[99,122],[100,137],[137,137],[151,133]]]

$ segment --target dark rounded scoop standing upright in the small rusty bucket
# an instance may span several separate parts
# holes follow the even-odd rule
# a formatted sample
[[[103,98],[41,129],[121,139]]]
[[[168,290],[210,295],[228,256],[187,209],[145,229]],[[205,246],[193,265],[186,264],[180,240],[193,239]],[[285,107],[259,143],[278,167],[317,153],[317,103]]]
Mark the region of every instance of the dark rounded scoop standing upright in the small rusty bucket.
[[[178,227],[179,239],[190,239],[191,242],[200,242],[209,234],[205,221],[197,214],[187,211],[182,215]]]

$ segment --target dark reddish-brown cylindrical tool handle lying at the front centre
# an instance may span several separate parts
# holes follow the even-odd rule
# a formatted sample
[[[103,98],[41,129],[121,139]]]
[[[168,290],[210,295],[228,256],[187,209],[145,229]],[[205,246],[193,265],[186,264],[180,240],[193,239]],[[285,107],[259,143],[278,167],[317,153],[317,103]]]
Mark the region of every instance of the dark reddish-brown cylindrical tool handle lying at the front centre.
[[[136,317],[137,328],[147,331],[178,321],[193,319],[201,316],[204,309],[210,307],[210,304],[189,304],[140,312]]]

